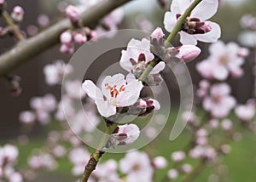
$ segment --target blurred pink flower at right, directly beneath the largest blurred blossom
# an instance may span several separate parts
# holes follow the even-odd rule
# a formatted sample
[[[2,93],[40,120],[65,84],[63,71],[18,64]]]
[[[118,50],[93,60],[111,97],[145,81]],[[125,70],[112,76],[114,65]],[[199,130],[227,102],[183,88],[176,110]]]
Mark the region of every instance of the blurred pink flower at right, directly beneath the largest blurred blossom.
[[[210,111],[212,117],[226,117],[236,105],[236,100],[230,96],[230,86],[217,83],[210,88],[210,95],[203,100],[203,107]]]

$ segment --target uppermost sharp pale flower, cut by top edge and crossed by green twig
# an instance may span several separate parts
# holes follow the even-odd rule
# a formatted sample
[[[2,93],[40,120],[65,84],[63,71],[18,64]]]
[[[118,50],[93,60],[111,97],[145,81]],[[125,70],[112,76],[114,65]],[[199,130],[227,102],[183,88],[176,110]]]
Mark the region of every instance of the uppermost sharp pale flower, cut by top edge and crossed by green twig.
[[[173,0],[171,12],[165,14],[166,31],[171,32],[178,18],[189,8],[192,0]],[[217,12],[218,0],[204,0],[199,3],[185,20],[180,34],[180,42],[196,45],[197,41],[214,43],[220,37],[220,27],[212,21],[207,21]]]

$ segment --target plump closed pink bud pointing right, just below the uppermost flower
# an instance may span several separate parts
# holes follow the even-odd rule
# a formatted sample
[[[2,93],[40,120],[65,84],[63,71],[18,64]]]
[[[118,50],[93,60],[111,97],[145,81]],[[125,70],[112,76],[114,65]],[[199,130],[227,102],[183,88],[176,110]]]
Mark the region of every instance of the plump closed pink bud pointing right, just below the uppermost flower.
[[[177,48],[179,51],[176,57],[185,62],[190,62],[191,60],[195,60],[199,54],[201,54],[201,49],[196,47],[195,45],[183,45]]]

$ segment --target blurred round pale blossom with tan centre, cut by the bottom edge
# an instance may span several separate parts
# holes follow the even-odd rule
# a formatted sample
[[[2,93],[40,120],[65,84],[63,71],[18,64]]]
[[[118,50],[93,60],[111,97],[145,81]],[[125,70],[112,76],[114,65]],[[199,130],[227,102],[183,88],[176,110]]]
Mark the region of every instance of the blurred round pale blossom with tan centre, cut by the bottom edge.
[[[126,174],[126,182],[152,181],[153,168],[149,157],[141,151],[127,153],[125,158],[120,160],[120,171]]]

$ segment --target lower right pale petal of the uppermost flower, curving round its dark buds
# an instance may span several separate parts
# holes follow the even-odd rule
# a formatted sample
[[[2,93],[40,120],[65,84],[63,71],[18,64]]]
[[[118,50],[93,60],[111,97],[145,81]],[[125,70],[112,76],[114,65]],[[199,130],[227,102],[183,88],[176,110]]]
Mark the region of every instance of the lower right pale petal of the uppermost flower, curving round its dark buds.
[[[204,34],[196,34],[195,38],[201,42],[205,43],[215,43],[218,41],[218,38],[221,36],[220,27],[217,23],[212,21],[207,21],[207,23],[212,27],[212,31],[209,31]]]

